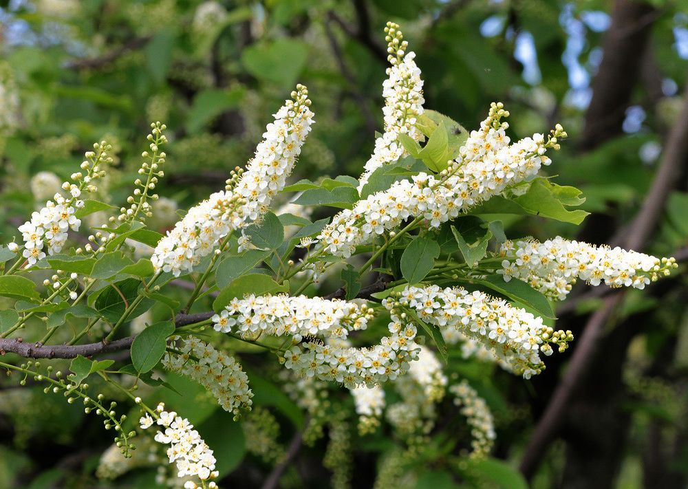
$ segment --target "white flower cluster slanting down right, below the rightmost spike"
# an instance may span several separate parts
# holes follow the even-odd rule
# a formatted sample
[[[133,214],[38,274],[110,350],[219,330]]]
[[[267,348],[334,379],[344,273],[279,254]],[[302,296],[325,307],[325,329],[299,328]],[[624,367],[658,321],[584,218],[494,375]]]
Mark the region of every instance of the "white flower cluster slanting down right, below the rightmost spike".
[[[552,354],[551,344],[563,351],[573,339],[570,332],[555,332],[543,325],[542,318],[525,309],[477,290],[442,289],[438,285],[407,287],[399,301],[402,306],[414,309],[426,323],[438,325],[440,329],[458,329],[480,342],[525,378],[537,375],[544,368],[540,352]]]

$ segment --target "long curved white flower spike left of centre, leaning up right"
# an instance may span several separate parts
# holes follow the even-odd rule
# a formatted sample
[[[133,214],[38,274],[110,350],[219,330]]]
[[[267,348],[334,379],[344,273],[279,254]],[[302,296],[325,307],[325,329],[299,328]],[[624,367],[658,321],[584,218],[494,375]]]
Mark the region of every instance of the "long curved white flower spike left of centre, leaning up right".
[[[292,98],[275,113],[275,122],[268,124],[255,157],[234,188],[213,193],[189,209],[160,240],[151,258],[156,271],[175,276],[189,272],[230,232],[264,214],[272,197],[284,187],[313,123],[308,89],[297,85]]]

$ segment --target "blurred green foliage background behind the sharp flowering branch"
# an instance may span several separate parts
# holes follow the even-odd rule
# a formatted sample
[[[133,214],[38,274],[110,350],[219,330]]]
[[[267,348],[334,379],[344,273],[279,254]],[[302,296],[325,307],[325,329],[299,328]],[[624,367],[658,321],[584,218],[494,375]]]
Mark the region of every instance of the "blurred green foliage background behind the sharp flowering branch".
[[[571,103],[572,95],[585,89],[574,91],[562,54],[572,42],[567,19],[574,19],[582,34],[577,38],[582,42],[577,60],[594,80],[606,29],[584,20],[590,12],[612,14],[612,2],[224,1],[224,21],[201,28],[193,27],[195,1],[67,1],[72,10],[62,13],[49,8],[54,3],[0,2],[0,63],[11,72],[21,100],[19,124],[0,133],[3,242],[11,241],[17,226],[41,204],[30,191],[32,175],[52,171],[65,179],[89,145],[103,138],[113,144],[116,161],[108,171],[107,194],[101,197],[121,205],[136,178],[151,120],[169,127],[166,177],[158,191],[179,208],[189,208],[222,188],[230,169],[244,165],[270,113],[297,82],[310,89],[317,123],[294,181],[357,177],[372,151],[374,131],[382,125],[381,85],[387,66],[382,30],[387,20],[393,20],[402,25],[417,54],[427,108],[446,113],[470,130],[484,118],[491,101],[501,100],[512,114],[512,139],[546,132],[555,122],[568,131],[570,140],[552,157],[552,171],[559,174],[559,184],[583,190],[587,200],[581,208],[596,216],[581,228],[504,217],[510,232],[603,243],[627,225],[643,202],[659,160],[641,155],[653,144],[662,144],[674,124],[688,64],[679,56],[674,32],[687,26],[685,4],[654,0],[647,7],[651,32],[638,52],[649,61],[625,79],[633,89],[616,107],[622,112],[638,107],[645,118],[634,127],[637,118],[627,116],[624,127],[629,131],[621,124],[602,124],[595,131],[599,139],[592,143],[594,138],[585,133],[589,109]],[[501,22],[491,36],[481,32],[488,19]],[[524,65],[515,58],[517,36],[524,32],[532,36],[537,53],[540,77],[530,79],[532,83],[524,80]],[[605,58],[607,53],[602,63]],[[682,181],[669,196],[649,246],[654,254],[671,256],[685,249],[686,181],[684,165]],[[330,215],[327,210],[319,213],[313,220]],[[173,223],[158,224],[156,230],[164,232]],[[333,288],[338,285],[332,283]],[[681,276],[659,292],[627,294],[614,325],[632,334],[616,338],[612,327],[603,340],[610,356],[597,361],[588,378],[588,385],[600,382],[614,388],[607,393],[602,388],[583,389],[567,415],[575,419],[567,417],[561,438],[542,454],[534,487],[605,487],[612,481],[616,487],[636,488],[652,487],[652,480],[667,481],[662,487],[685,484],[685,296]],[[559,317],[579,334],[600,301],[578,301]],[[153,319],[164,314],[169,314],[165,305],[152,312]],[[237,349],[251,356],[250,347]],[[444,456],[455,448],[460,430],[466,435],[465,426],[449,425],[433,435],[429,453],[407,467],[404,480],[418,489],[522,485],[515,468],[566,357],[553,357],[548,371],[532,382],[478,362],[455,362],[461,369],[457,373],[469,378],[493,409],[498,432],[495,459],[449,466]],[[264,365],[249,362],[246,367],[255,405],[276,415],[279,442],[286,446],[303,426],[303,413],[266,376]],[[155,485],[154,468],[136,470],[115,482],[98,481],[94,468],[111,444],[109,433],[78,407],[43,395],[40,386],[0,382],[0,487]],[[168,382],[183,396],[167,389],[163,400],[179,406],[213,447],[219,470],[227,475],[221,486],[259,486],[270,464],[246,454],[250,440],[244,439],[241,421],[233,422],[193,382],[176,376]],[[595,431],[591,422],[590,435],[585,426],[595,417],[623,418],[624,424],[604,432]],[[321,462],[323,448],[305,448],[286,473],[284,486],[322,487],[329,478]],[[372,486],[376,464],[392,448],[390,433],[354,439],[356,487]],[[661,463],[653,458],[658,454]],[[601,457],[608,473],[590,469],[592,462],[585,457]]]

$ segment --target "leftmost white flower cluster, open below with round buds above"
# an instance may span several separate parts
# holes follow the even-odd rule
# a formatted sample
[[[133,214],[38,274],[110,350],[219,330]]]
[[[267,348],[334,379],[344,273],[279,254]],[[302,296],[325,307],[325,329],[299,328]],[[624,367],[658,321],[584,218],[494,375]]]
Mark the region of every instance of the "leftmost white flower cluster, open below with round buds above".
[[[56,193],[41,210],[32,213],[30,221],[19,226],[24,240],[23,257],[29,265],[45,258],[46,251],[50,255],[61,252],[67,242],[69,230],[79,230],[81,220],[76,217],[76,211],[84,206],[80,197],[83,192],[96,191],[94,180],[103,176],[100,164],[109,161],[109,145],[105,141],[94,144],[94,150],[86,153],[86,160],[80,166],[86,175],[81,172],[73,173],[72,180],[77,183],[62,184],[63,190],[69,192],[69,195],[65,197]],[[12,247],[19,249],[17,245]]]

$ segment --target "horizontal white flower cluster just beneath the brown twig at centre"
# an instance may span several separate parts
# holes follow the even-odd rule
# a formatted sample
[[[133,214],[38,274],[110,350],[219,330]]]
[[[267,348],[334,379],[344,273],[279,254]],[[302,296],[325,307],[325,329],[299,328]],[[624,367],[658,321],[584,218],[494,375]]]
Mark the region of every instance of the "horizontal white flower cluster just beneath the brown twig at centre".
[[[246,298],[234,298],[220,314],[213,316],[213,323],[215,330],[223,333],[289,334],[301,341],[308,335],[346,338],[350,331],[365,329],[371,318],[372,312],[366,305],[340,299],[250,294]]]

